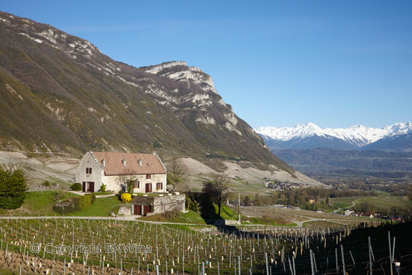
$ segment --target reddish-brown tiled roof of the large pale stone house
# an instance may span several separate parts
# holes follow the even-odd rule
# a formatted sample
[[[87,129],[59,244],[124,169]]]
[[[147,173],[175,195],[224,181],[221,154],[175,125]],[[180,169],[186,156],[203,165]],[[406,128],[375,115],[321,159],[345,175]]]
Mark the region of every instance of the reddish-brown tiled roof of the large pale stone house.
[[[166,173],[160,159],[154,154],[93,152],[93,155],[107,176]],[[105,166],[103,166],[103,160]],[[124,160],[126,166],[123,164]],[[139,160],[141,160],[141,166],[139,166]]]

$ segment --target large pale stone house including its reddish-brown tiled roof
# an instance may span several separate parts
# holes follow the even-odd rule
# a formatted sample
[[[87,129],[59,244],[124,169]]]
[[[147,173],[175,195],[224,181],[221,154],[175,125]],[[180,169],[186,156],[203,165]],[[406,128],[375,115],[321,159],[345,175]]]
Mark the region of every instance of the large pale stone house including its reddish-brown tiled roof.
[[[167,170],[156,153],[87,152],[80,161],[76,182],[82,192],[127,190],[133,182],[133,192],[166,192]]]

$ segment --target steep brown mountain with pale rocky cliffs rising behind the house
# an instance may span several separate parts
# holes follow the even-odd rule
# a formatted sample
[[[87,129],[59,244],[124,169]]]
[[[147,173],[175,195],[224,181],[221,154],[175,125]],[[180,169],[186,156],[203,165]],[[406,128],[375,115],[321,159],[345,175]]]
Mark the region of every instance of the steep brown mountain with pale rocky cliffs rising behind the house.
[[[89,41],[5,12],[0,96],[2,149],[157,151],[216,167],[214,159],[232,159],[294,172],[201,69],[181,61],[133,67]]]

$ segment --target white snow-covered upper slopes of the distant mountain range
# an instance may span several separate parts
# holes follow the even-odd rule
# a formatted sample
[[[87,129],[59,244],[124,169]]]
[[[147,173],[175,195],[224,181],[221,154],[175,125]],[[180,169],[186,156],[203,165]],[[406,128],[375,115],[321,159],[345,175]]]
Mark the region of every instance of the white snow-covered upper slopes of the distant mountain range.
[[[382,138],[394,137],[397,135],[404,135],[412,133],[411,122],[397,122],[395,124],[385,126],[382,128],[366,127],[363,125],[354,125],[348,128],[325,128],[317,126],[309,122],[308,124],[297,124],[294,127],[277,128],[272,126],[261,126],[255,129],[256,133],[266,135],[274,140],[288,141],[295,137],[305,138],[313,135],[325,137],[330,135],[332,137],[345,140],[356,146],[365,146],[372,142],[381,140]]]

